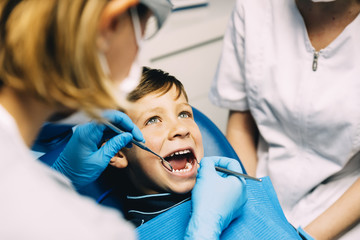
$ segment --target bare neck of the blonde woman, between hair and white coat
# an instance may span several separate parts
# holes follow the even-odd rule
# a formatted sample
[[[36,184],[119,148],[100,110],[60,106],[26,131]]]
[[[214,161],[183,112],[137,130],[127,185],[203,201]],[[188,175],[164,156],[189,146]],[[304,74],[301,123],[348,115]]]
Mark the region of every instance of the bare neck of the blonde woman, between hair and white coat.
[[[53,113],[51,107],[12,88],[0,89],[0,104],[15,119],[27,146],[31,147],[40,127]]]

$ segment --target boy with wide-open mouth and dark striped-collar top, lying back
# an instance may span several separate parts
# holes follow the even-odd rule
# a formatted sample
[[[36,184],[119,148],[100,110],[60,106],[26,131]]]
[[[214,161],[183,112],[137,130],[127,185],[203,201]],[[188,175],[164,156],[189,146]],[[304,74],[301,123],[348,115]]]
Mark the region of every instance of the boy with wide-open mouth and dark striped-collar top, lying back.
[[[169,171],[158,157],[136,146],[111,159],[110,165],[121,169],[116,175],[126,178],[119,181],[130,183],[117,184],[125,217],[139,226],[190,199],[204,152],[186,92],[175,77],[144,68],[128,101],[123,110],[140,128],[146,145],[173,167]]]

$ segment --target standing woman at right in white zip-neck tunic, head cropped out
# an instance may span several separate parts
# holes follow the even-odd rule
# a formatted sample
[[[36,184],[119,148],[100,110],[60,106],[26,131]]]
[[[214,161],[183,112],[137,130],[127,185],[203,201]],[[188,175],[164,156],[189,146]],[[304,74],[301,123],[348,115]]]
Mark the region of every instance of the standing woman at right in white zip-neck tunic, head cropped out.
[[[315,239],[360,237],[360,1],[238,0],[210,98]]]

